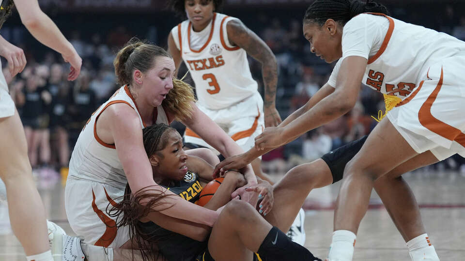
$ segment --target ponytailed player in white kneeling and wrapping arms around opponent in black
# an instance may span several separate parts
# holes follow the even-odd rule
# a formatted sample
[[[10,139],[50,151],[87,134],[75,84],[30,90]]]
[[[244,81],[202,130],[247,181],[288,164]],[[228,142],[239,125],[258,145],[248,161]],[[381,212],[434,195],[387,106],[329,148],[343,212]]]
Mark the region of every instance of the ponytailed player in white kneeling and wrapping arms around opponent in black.
[[[223,154],[234,155],[241,148],[197,108],[191,87],[174,78],[173,59],[163,48],[132,39],[116,55],[114,66],[122,87],[92,114],[71,156],[65,188],[71,228],[89,245],[111,247],[109,251],[132,248],[128,227],[117,228],[116,220],[106,213],[109,203],[114,205],[122,199],[126,183],[133,191],[147,186],[159,188],[158,194],[152,193],[160,203],[152,205],[154,211],[213,226],[219,212],[179,197],[165,197],[175,195],[170,190],[161,192],[152,176],[142,130],[178,119]],[[257,183],[250,166],[242,171],[248,184]],[[148,199],[140,203],[145,205]],[[164,207],[165,203],[172,207]],[[197,214],[191,215],[193,212]]]

